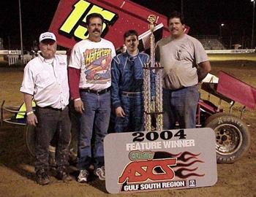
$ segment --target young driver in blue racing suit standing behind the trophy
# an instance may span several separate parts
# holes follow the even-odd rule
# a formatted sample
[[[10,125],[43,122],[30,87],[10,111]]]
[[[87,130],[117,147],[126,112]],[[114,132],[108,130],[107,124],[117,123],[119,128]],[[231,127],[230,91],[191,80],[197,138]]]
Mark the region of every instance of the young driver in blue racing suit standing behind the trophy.
[[[143,66],[149,56],[138,50],[138,33],[124,33],[127,52],[118,54],[112,61],[111,101],[116,112],[114,130],[117,133],[144,131],[143,128]],[[154,76],[151,74],[154,92]]]

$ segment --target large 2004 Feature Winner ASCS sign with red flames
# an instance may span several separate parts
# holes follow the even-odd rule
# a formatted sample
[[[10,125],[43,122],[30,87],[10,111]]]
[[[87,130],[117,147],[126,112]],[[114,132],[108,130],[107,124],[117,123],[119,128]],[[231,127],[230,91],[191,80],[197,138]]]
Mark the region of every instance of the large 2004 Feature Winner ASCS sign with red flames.
[[[211,128],[108,134],[106,189],[135,193],[214,185],[215,146]]]

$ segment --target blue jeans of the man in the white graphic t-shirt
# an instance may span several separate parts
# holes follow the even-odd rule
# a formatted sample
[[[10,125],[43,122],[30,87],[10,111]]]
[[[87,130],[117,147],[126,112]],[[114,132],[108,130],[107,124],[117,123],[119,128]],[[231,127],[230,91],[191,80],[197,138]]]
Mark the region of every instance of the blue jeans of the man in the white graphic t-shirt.
[[[92,161],[94,167],[99,168],[104,166],[103,139],[108,134],[110,91],[101,95],[80,92],[80,98],[84,111],[80,116],[78,169],[88,169]],[[94,139],[94,147],[91,146],[91,139]]]

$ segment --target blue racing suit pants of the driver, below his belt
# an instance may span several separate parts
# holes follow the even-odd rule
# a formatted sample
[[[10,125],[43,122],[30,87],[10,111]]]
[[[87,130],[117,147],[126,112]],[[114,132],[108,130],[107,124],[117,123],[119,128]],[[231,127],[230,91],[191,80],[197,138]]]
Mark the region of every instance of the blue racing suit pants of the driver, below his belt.
[[[116,117],[116,133],[143,131],[143,93],[136,96],[121,95],[125,117]]]

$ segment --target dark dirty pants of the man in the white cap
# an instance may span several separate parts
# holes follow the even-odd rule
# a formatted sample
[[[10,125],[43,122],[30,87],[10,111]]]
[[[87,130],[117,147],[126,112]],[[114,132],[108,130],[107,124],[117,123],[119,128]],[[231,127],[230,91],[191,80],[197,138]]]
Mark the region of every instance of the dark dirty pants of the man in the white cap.
[[[48,170],[48,149],[50,141],[56,135],[56,164],[58,170],[66,168],[69,157],[70,119],[69,109],[63,111],[36,107],[36,162],[35,169]]]

